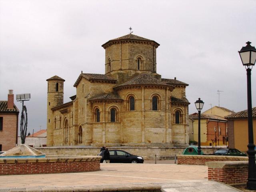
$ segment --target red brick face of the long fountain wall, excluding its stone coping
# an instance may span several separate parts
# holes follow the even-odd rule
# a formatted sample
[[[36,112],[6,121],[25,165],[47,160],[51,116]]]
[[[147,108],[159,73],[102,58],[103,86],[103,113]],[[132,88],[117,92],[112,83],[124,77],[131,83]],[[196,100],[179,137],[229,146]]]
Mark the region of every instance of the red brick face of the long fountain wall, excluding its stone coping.
[[[88,172],[100,170],[100,160],[81,162],[0,163],[0,175]]]

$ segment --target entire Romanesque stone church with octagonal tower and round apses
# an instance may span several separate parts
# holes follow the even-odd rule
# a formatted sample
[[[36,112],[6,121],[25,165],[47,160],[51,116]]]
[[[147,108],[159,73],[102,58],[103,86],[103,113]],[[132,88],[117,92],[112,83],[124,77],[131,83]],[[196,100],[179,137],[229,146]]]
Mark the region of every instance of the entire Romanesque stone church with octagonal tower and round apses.
[[[104,43],[105,74],[81,72],[67,103],[65,80],[47,79],[47,146],[188,145],[188,84],[157,74],[159,45],[131,33]]]

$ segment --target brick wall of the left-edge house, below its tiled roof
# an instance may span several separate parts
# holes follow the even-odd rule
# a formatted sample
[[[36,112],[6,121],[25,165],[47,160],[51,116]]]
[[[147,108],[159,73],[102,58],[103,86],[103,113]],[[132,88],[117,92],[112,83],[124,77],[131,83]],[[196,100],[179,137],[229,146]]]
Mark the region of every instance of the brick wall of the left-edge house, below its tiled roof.
[[[3,117],[0,144],[2,144],[2,151],[7,151],[16,146],[17,114],[0,114],[0,117]]]

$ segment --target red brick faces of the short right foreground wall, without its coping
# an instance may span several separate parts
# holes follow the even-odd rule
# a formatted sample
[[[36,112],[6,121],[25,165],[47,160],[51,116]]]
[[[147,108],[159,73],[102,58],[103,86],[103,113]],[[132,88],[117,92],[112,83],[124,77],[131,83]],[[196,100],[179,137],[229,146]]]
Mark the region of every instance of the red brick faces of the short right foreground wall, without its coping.
[[[228,168],[208,167],[208,180],[219,181],[226,184],[244,184],[248,178],[248,165]]]

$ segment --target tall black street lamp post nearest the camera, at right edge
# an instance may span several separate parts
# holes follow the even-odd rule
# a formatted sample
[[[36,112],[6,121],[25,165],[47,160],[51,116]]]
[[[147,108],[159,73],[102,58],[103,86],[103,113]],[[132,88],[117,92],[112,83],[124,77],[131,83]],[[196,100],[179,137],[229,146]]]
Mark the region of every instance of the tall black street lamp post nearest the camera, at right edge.
[[[246,68],[247,74],[247,107],[248,107],[248,181],[247,188],[256,190],[256,164],[255,164],[255,145],[253,141],[252,129],[252,90],[251,90],[251,71],[256,61],[256,49],[251,46],[251,42],[246,42],[246,46],[242,47],[239,52],[243,66]]]

